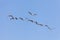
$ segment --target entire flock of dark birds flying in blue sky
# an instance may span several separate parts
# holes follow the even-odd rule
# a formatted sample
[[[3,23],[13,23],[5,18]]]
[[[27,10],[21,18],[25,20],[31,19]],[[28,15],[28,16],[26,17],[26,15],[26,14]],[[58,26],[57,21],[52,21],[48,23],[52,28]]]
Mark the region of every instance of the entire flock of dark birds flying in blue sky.
[[[37,14],[31,13],[30,11],[28,11],[28,13],[29,13],[29,15],[31,15],[31,16],[36,16],[36,15],[37,15]],[[18,19],[20,19],[20,20],[24,21],[24,18],[22,18],[22,17],[17,18],[17,17],[14,17],[13,15],[9,15],[9,18],[10,18],[10,20],[18,20]],[[27,21],[30,21],[30,22],[32,22],[32,23],[35,23],[36,25],[45,26],[45,27],[47,27],[49,30],[52,30],[48,25],[40,24],[40,23],[38,23],[37,21],[34,21],[34,20],[32,20],[32,19],[28,19],[28,18],[25,18],[25,19],[27,19]]]

